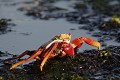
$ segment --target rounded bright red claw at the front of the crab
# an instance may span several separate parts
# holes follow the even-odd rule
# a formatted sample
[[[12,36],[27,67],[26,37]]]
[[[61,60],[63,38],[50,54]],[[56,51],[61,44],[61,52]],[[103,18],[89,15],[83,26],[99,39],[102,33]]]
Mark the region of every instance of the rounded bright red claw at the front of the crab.
[[[74,48],[71,46],[71,44],[67,43],[67,42],[62,42],[62,47],[63,47],[63,51],[70,55],[70,56],[74,56]]]

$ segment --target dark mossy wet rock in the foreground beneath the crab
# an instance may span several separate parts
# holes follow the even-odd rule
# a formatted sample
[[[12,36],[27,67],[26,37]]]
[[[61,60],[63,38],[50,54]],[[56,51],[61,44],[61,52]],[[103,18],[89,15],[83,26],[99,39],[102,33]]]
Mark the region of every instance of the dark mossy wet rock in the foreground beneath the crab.
[[[8,70],[11,64],[16,61],[3,62],[0,59],[0,79],[5,80],[119,80],[120,79],[120,46],[110,46],[103,49],[111,54],[108,57],[98,56],[97,50],[85,50],[78,52],[74,57],[65,56],[63,58],[49,59],[43,71],[39,69],[40,61],[33,61],[29,64]],[[0,57],[13,55],[0,53]],[[18,60],[19,61],[19,60]]]

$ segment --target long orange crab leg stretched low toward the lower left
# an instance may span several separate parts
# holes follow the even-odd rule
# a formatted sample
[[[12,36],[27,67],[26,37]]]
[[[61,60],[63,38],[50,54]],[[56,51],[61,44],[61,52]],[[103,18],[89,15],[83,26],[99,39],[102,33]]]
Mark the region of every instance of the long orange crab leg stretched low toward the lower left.
[[[10,67],[10,70],[13,69],[13,68],[15,68],[15,67],[17,67],[17,66],[19,66],[19,65],[21,65],[21,64],[23,64],[23,63],[25,63],[25,62],[28,62],[28,61],[34,59],[34,58],[37,57],[39,54],[41,54],[41,52],[42,52],[42,49],[36,50],[35,53],[34,53],[32,56],[30,56],[30,58],[25,59],[25,60],[22,60],[22,61],[19,61],[19,62],[13,64],[13,65]]]

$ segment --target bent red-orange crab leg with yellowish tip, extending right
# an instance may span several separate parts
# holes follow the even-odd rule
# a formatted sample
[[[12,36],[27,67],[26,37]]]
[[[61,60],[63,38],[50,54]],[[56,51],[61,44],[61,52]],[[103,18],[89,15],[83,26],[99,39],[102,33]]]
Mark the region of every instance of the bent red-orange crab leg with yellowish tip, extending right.
[[[82,46],[82,43],[85,42],[91,46],[97,47],[98,50],[100,50],[100,43],[98,41],[95,41],[93,39],[87,38],[87,37],[80,37],[80,38],[76,38],[71,42],[71,45],[74,48],[80,48]]]

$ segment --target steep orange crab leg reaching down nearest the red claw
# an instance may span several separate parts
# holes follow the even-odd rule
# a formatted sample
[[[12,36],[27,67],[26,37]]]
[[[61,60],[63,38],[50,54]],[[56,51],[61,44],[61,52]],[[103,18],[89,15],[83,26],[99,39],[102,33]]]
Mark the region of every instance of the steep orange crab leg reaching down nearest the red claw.
[[[46,51],[46,56],[45,58],[43,59],[43,61],[41,62],[41,65],[40,65],[40,70],[42,71],[43,69],[43,66],[45,64],[45,62],[47,61],[47,59],[49,58],[49,56],[53,53],[53,51],[56,49],[56,47],[58,46],[58,43],[54,43],[52,46],[50,46],[48,48],[48,50]]]

